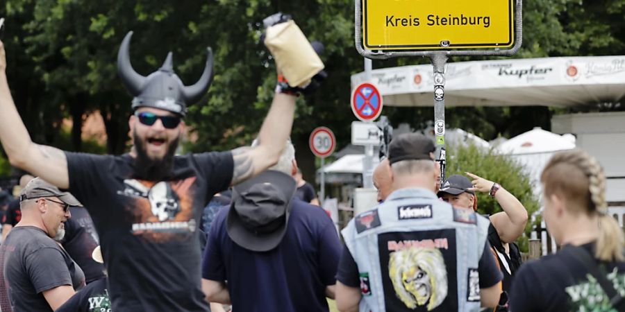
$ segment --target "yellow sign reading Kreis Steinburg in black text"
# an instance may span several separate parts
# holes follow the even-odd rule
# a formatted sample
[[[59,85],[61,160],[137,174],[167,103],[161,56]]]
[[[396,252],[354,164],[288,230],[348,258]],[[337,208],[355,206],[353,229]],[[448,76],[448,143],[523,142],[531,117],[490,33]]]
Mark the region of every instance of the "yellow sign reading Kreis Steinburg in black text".
[[[363,0],[369,50],[501,48],[514,45],[513,0]]]

